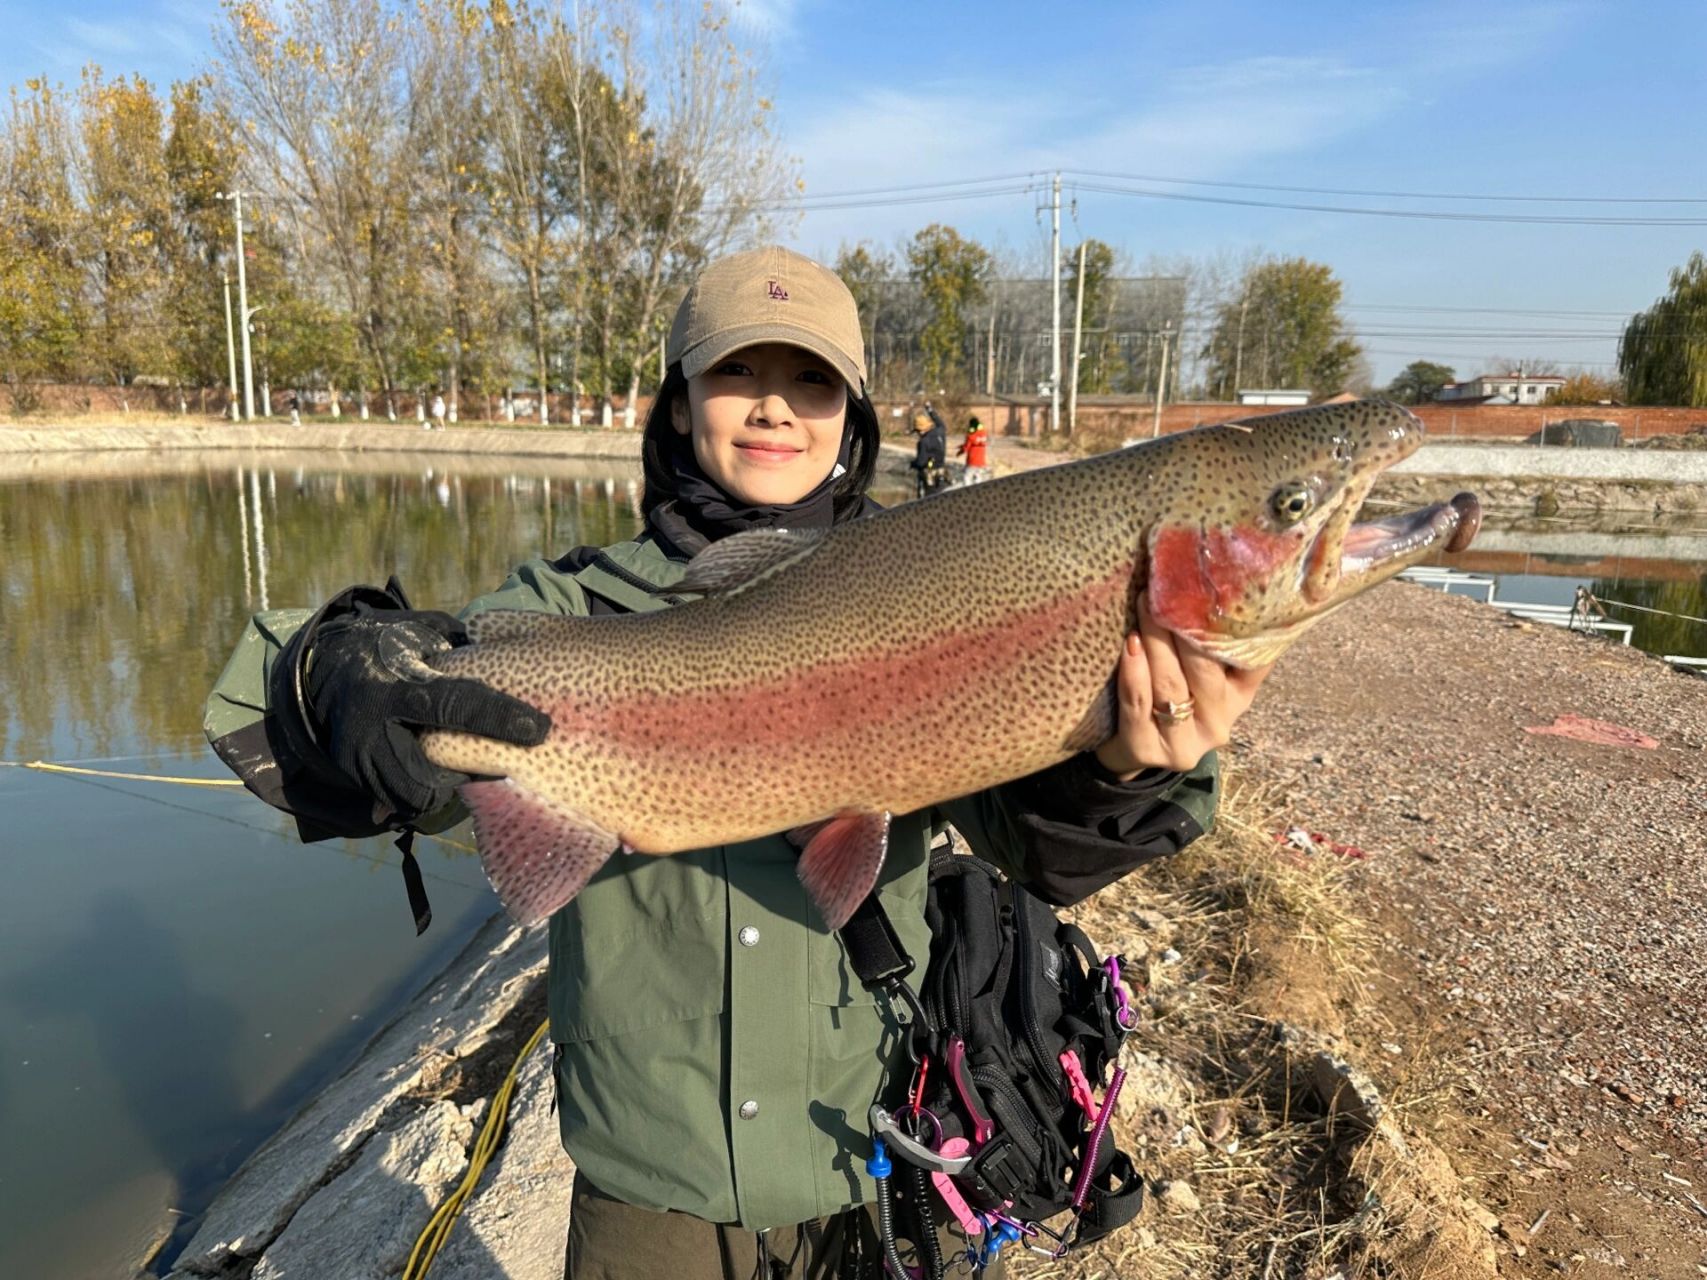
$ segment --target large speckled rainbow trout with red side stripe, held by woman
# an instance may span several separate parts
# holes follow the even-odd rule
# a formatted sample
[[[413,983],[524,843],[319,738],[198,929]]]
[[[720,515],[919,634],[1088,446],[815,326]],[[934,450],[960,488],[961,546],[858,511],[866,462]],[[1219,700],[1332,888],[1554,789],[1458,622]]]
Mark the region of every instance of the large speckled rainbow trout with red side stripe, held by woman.
[[[428,732],[510,915],[550,915],[618,848],[789,831],[831,927],[889,814],[1094,748],[1137,596],[1183,642],[1272,662],[1314,621],[1480,521],[1475,497],[1354,524],[1422,423],[1333,404],[1168,435],[824,532],[714,543],[649,614],[486,613],[434,666],[551,717],[536,748]]]

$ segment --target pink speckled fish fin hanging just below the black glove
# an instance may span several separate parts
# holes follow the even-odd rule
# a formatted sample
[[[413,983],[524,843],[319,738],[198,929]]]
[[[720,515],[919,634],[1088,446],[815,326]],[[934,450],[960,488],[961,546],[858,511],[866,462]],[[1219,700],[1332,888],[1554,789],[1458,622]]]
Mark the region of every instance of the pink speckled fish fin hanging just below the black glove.
[[[519,925],[563,906],[621,843],[514,778],[466,782],[457,794],[475,817],[480,865]]]

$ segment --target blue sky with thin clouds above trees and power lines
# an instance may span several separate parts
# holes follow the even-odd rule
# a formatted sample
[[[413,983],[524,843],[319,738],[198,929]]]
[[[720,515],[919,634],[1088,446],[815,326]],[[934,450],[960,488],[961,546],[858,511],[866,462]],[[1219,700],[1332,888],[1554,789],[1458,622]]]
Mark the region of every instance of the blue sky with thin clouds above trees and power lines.
[[[584,0],[584,3],[589,0]],[[1700,203],[1427,203],[1168,186],[1287,203],[1707,218],[1707,7],[1258,0],[746,0],[807,193],[1053,169],[1302,188]],[[0,2],[0,79],[87,60],[191,73],[213,0]],[[1074,179],[1069,177],[1069,188]],[[1620,316],[1707,247],[1702,227],[1424,222],[1069,191],[1063,241],[1147,256],[1304,254],[1345,282],[1381,381],[1412,358],[1606,364]],[[794,242],[894,244],[944,220],[1041,266],[1041,193],[807,213]],[[1389,311],[1420,307],[1424,311]],[[1538,314],[1509,314],[1538,312]],[[1565,314],[1591,312],[1591,314]],[[1557,336],[1538,336],[1557,331]],[[1564,335],[1570,335],[1569,338]]]

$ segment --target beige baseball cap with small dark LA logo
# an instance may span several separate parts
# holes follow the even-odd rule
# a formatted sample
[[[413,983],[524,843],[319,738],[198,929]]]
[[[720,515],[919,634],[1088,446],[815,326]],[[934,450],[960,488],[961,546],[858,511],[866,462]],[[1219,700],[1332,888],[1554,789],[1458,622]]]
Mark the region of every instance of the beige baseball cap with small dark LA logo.
[[[754,343],[789,343],[823,357],[854,394],[865,389],[859,307],[842,276],[772,244],[719,258],[700,271],[669,326],[664,358],[698,377]]]

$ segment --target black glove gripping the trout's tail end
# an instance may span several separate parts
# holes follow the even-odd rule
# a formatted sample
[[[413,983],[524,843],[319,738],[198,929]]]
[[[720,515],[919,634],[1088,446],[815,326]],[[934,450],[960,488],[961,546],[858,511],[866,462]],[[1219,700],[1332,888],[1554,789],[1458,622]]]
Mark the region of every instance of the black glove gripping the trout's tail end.
[[[440,676],[423,659],[468,643],[447,613],[372,609],[329,620],[314,637],[306,693],[326,754],[376,807],[405,823],[451,800],[466,773],[439,768],[420,729],[454,729],[538,746],[551,717],[480,681]]]

